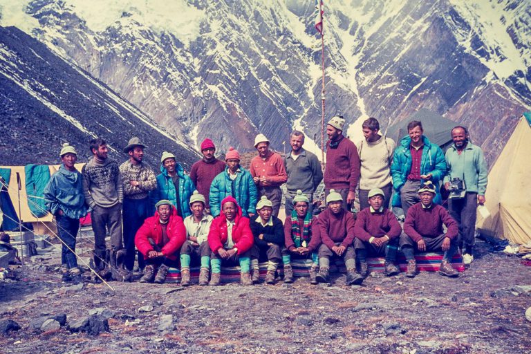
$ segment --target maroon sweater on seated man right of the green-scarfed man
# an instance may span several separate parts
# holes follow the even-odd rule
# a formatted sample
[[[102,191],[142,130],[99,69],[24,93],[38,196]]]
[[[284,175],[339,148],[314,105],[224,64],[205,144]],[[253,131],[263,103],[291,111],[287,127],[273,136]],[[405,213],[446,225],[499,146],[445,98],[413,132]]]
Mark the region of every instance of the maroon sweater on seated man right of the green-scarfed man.
[[[341,209],[339,214],[333,214],[330,209],[326,209],[317,218],[321,242],[330,250],[334,244],[340,242],[345,247],[352,245],[354,241],[354,215]]]

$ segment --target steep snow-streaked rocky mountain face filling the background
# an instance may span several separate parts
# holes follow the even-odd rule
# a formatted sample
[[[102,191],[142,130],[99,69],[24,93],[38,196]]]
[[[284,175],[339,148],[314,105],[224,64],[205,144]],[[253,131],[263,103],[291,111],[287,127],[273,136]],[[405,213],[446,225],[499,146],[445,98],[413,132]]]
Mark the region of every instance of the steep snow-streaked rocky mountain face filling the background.
[[[531,2],[324,1],[326,118],[360,137],[420,108],[466,124],[489,160],[531,107]],[[251,149],[265,133],[320,143],[315,2],[0,0],[17,26],[191,145]],[[308,146],[312,142],[308,141]],[[316,146],[313,146],[316,148]]]

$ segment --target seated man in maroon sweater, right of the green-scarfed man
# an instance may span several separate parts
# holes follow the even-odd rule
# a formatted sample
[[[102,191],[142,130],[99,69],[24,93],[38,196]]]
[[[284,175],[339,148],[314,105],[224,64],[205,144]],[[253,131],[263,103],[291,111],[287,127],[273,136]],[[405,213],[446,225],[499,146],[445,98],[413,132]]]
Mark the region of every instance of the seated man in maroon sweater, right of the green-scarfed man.
[[[343,198],[341,194],[330,189],[330,194],[326,196],[324,212],[319,215],[317,224],[321,235],[322,245],[319,246],[319,273],[317,281],[328,283],[330,277],[330,257],[342,257],[346,265],[346,285],[360,284],[363,277],[356,272],[354,241],[354,215],[347,212],[342,207]]]

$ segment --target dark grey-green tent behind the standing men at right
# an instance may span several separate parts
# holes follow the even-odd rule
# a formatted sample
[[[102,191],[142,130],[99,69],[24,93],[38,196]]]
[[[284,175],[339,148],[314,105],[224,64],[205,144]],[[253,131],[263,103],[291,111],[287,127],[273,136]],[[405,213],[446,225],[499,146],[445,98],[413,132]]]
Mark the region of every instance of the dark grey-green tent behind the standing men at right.
[[[400,122],[394,122],[387,129],[386,136],[395,140],[398,145],[400,139],[404,138],[404,136],[407,136],[407,124],[409,124],[411,120],[418,120],[422,122],[424,135],[427,136],[429,141],[439,145],[443,151],[446,151],[447,147],[452,144],[450,135],[451,129],[458,124],[453,120],[444,118],[442,115],[438,115],[437,113],[427,109],[419,109],[408,119],[400,120]]]

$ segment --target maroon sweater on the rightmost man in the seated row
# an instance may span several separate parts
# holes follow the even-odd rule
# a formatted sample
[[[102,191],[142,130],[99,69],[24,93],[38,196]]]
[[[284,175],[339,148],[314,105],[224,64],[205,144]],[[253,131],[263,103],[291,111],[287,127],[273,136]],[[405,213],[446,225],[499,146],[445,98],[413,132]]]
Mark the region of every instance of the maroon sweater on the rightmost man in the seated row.
[[[446,236],[455,239],[459,228],[447,209],[437,204],[431,204],[431,207],[425,209],[422,203],[416,203],[407,211],[404,232],[413,241],[418,242],[424,237],[437,237],[443,234],[443,224],[448,229]]]

